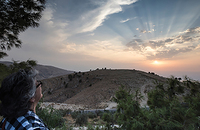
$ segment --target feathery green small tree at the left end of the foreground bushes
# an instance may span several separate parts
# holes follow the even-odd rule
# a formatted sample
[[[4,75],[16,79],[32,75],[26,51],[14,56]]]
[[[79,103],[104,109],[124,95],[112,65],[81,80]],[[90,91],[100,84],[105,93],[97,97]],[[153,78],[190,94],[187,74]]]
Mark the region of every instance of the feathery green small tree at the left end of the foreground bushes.
[[[140,121],[144,120],[139,104],[141,99],[142,96],[138,90],[133,95],[122,86],[116,92],[113,100],[118,105],[114,118],[123,130],[139,130],[144,128],[144,124]]]

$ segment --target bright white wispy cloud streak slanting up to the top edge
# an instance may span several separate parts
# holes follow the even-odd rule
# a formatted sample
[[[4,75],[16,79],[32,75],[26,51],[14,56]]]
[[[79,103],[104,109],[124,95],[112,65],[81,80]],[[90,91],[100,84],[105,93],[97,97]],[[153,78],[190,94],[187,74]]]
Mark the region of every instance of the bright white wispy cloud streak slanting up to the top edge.
[[[92,32],[101,26],[103,22],[109,18],[109,15],[123,11],[122,5],[130,5],[136,1],[137,0],[92,1],[91,4],[96,6],[96,8],[84,10],[77,19],[71,21],[71,32]]]

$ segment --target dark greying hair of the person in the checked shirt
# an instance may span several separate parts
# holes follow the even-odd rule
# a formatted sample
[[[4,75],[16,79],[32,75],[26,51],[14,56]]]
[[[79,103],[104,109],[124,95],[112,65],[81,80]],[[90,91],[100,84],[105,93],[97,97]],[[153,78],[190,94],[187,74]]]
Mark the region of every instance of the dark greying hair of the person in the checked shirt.
[[[34,96],[36,86],[35,69],[19,70],[6,77],[0,88],[0,114],[7,119],[17,118],[28,112],[29,100]]]

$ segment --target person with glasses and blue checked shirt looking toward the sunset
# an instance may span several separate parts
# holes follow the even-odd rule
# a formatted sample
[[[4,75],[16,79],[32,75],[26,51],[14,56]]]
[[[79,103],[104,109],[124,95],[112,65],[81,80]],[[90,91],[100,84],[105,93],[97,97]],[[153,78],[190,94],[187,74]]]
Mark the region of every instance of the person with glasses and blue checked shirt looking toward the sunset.
[[[0,130],[48,130],[36,115],[42,98],[41,82],[36,81],[35,69],[19,70],[2,81],[0,114],[4,117]]]

